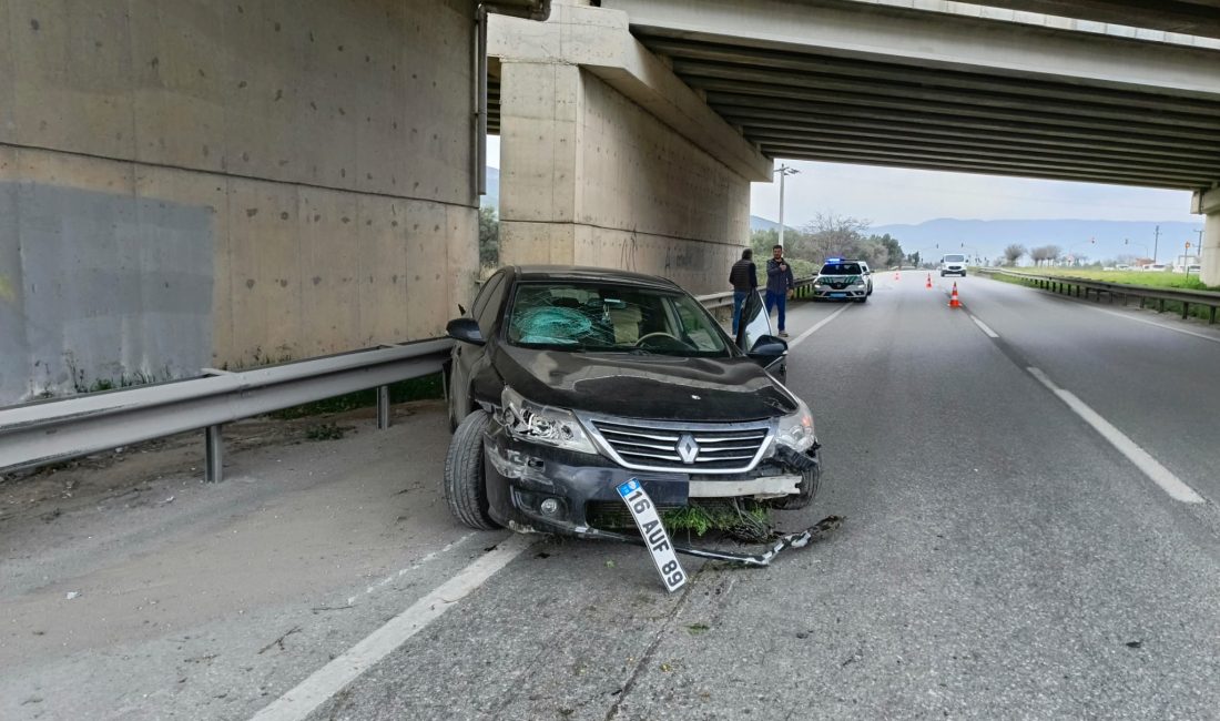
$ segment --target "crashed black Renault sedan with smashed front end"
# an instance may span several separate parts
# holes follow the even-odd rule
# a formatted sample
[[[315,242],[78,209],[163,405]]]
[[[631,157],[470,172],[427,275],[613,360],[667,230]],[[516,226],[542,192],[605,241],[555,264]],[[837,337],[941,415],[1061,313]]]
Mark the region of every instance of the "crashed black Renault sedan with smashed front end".
[[[631,525],[615,490],[630,478],[660,509],[808,505],[820,477],[814,421],[781,382],[787,344],[761,305],[748,300],[732,339],[665,278],[498,271],[448,326],[454,516],[612,537]]]

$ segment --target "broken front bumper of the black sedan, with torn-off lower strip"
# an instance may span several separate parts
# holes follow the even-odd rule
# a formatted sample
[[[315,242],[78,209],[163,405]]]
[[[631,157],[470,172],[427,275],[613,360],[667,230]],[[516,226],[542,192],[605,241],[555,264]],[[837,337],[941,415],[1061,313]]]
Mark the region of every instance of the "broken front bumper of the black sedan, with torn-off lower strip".
[[[752,471],[723,476],[643,472],[623,468],[601,455],[526,443],[493,420],[484,437],[488,511],[503,526],[522,533],[556,533],[577,538],[643,544],[627,531],[630,516],[615,488],[637,478],[658,509],[678,509],[692,500],[731,503],[748,498],[761,504],[798,494],[817,473],[816,444],[802,454],[777,445]],[[824,521],[824,523],[826,523]],[[619,532],[622,528],[625,532]],[[828,528],[819,526],[780,536],[759,554],[739,554],[675,543],[675,550],[705,559],[765,566],[784,548],[800,548]]]

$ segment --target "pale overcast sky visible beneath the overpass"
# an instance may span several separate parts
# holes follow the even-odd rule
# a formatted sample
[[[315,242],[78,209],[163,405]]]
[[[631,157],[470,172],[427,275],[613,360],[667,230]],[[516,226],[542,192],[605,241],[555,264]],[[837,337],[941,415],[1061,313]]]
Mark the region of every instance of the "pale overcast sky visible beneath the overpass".
[[[499,167],[500,139],[488,137],[488,165]],[[1105,220],[1199,222],[1191,194],[1122,185],[1035,181],[808,161],[776,161],[800,171],[784,182],[784,224],[817,213],[872,226],[961,220]],[[777,221],[780,184],[752,183],[750,213]]]

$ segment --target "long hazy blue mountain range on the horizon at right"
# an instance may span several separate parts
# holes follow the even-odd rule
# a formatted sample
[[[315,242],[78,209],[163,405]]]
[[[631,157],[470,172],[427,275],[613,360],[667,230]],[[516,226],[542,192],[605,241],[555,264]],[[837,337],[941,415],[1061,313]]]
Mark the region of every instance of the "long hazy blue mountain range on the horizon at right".
[[[1160,239],[1155,239],[1160,226]],[[1058,245],[1064,254],[1088,256],[1092,260],[1113,259],[1119,255],[1150,256],[1157,250],[1160,260],[1182,253],[1183,244],[1198,242],[1198,223],[1155,221],[964,221],[937,218],[919,224],[874,226],[870,233],[895,238],[905,253],[924,251],[924,257],[942,253],[961,251],[963,245],[971,255],[996,259],[1004,248],[1014,243],[1026,249],[1039,245]],[[1092,242],[1091,242],[1092,240]],[[1124,244],[1124,240],[1128,240]],[[939,244],[939,248],[936,245]]]

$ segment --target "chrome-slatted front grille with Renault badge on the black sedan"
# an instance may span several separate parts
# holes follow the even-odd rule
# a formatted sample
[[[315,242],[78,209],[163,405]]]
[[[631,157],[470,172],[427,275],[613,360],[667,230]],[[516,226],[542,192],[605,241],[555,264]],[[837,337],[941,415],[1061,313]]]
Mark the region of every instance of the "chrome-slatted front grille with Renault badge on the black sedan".
[[[625,423],[593,418],[593,431],[628,468],[733,473],[754,467],[771,438],[766,421],[752,423]]]

